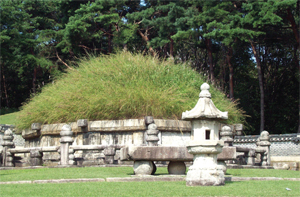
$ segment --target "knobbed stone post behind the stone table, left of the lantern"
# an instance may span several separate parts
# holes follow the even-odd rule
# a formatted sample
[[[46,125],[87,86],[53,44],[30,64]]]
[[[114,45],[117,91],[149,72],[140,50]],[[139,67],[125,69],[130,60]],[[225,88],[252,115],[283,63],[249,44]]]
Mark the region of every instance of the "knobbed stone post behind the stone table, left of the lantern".
[[[154,123],[154,119],[152,116],[146,116],[145,117],[145,123],[147,125],[147,139],[146,142],[149,146],[157,146],[158,145],[158,130],[157,130],[157,126]]]

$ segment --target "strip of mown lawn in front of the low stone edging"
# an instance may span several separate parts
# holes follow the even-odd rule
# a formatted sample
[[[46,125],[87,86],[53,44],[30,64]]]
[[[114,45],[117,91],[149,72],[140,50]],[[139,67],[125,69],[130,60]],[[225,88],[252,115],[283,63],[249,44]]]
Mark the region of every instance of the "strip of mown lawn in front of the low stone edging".
[[[299,181],[226,182],[225,186],[187,187],[176,182],[86,182],[0,185],[4,196],[300,196]],[[291,191],[287,191],[286,188]]]

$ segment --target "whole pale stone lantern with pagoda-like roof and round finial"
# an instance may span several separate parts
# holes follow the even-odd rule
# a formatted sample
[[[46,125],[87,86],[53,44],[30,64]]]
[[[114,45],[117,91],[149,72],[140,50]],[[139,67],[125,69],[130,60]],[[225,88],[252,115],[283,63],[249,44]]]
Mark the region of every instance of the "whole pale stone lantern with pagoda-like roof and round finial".
[[[219,140],[219,120],[228,119],[228,112],[216,108],[207,83],[201,85],[196,106],[183,112],[182,119],[192,123],[191,141],[186,147],[194,159],[187,172],[186,185],[224,185],[223,166],[217,164],[217,154],[222,152],[224,146],[224,141]]]

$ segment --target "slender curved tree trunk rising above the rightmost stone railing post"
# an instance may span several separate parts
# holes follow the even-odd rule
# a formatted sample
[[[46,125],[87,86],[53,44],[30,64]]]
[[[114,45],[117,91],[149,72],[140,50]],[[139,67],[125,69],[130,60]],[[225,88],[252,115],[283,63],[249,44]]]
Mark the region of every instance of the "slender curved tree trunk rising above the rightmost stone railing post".
[[[265,129],[265,109],[264,109],[265,93],[264,93],[264,85],[263,85],[263,74],[261,69],[260,58],[259,55],[257,54],[256,48],[252,40],[250,40],[250,44],[257,65],[257,73],[258,73],[258,81],[259,81],[259,89],[260,89],[260,132],[262,132]]]

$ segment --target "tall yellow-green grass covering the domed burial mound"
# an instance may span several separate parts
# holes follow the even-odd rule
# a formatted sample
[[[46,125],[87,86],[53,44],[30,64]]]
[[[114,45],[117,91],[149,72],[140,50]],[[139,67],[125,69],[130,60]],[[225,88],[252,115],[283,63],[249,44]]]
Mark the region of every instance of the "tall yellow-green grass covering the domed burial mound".
[[[192,109],[204,83],[186,65],[160,61],[143,54],[119,52],[82,59],[54,84],[31,98],[18,117],[17,127],[33,122],[58,123],[78,119],[111,120],[142,118],[181,119]],[[215,105],[229,112],[228,123],[243,122],[242,111],[224,94],[211,87]]]

